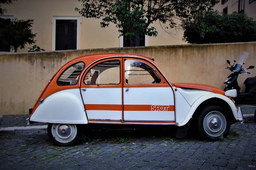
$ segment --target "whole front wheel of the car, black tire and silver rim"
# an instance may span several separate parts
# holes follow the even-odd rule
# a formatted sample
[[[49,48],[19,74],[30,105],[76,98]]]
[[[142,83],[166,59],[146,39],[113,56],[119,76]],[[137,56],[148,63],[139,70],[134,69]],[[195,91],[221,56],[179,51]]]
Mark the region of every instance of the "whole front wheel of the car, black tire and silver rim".
[[[230,126],[229,115],[219,106],[206,106],[198,117],[198,131],[205,140],[218,141],[220,136],[226,137]]]

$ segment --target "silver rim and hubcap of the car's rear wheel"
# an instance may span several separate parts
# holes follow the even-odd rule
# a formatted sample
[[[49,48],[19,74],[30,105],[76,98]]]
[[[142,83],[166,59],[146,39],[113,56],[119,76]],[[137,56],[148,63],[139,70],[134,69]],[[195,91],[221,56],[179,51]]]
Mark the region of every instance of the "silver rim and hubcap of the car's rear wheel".
[[[53,124],[52,136],[56,141],[61,143],[68,143],[76,138],[77,128],[76,125],[69,124]]]

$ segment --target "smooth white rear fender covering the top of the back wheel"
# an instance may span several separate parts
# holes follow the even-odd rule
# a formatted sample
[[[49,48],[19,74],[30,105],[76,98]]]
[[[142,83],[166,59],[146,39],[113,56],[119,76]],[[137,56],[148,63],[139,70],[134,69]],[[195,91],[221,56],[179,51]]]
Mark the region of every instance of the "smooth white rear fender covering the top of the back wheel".
[[[31,115],[32,122],[87,124],[80,89],[58,91],[42,102]]]

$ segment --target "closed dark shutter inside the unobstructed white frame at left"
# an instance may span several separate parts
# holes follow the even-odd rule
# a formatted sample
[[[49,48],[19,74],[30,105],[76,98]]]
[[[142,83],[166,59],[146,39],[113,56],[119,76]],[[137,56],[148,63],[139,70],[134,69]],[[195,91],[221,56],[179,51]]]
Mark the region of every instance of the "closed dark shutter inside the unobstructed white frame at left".
[[[56,20],[55,50],[76,49],[77,20]]]

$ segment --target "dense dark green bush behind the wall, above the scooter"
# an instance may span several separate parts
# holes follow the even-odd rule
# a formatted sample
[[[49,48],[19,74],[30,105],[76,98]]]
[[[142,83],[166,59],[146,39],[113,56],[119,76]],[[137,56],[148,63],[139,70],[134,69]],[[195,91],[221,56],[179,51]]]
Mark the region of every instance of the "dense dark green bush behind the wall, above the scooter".
[[[256,20],[246,13],[205,11],[194,20],[185,19],[183,40],[191,44],[256,41]]]

